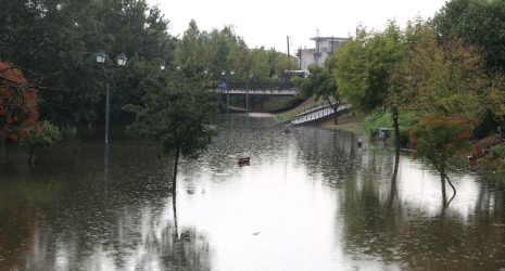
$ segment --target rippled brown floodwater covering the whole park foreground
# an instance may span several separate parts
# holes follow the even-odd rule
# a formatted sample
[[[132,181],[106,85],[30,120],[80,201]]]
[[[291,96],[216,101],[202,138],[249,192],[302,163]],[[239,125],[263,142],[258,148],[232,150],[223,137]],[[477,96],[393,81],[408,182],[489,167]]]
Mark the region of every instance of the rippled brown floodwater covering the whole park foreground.
[[[451,172],[443,208],[422,160],[403,154],[393,180],[393,152],[361,136],[283,130],[229,118],[175,201],[172,158],[136,140],[113,134],[108,170],[100,136],[33,168],[4,151],[0,270],[505,270],[500,180]]]

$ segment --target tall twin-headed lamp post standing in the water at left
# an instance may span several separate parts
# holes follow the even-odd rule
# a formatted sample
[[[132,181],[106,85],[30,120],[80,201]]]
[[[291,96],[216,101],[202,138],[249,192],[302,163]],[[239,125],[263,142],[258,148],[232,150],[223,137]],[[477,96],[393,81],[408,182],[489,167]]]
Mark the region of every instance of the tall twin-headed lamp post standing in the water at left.
[[[127,57],[124,53],[117,55],[117,66],[126,65]],[[105,75],[105,166],[109,166],[109,118],[110,118],[110,102],[111,102],[111,80],[114,76],[113,63],[111,59],[102,50],[97,53],[97,62],[102,66]]]

